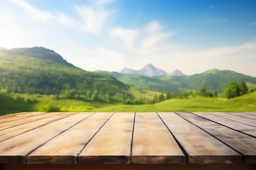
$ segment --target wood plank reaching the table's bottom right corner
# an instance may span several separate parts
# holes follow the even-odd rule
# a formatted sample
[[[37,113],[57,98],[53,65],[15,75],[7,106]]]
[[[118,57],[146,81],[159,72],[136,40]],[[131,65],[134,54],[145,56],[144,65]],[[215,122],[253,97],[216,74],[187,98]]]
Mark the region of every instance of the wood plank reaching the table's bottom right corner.
[[[256,138],[227,128],[193,113],[177,113],[243,155],[245,163],[256,163]]]

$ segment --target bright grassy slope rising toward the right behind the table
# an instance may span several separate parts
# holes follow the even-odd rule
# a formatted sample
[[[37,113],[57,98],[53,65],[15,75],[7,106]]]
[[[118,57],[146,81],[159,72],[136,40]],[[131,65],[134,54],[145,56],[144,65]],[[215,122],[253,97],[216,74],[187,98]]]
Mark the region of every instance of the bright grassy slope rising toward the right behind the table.
[[[169,99],[156,104],[116,105],[95,108],[97,112],[256,112],[256,92],[232,99],[221,97],[190,97]]]

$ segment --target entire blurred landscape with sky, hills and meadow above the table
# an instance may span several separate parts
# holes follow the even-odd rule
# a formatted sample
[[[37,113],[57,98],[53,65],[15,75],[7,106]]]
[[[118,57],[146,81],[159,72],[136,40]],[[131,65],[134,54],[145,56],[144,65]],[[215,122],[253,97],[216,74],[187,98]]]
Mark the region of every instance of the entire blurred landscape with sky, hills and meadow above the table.
[[[256,112],[256,1],[2,0],[0,115]]]

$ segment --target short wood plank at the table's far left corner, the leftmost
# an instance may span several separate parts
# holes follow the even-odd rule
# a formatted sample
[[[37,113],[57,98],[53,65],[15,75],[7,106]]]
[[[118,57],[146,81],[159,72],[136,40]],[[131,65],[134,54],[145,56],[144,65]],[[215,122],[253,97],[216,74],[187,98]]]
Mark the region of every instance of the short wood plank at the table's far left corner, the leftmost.
[[[21,113],[14,113],[14,114],[10,114],[10,115],[3,115],[3,116],[0,116],[0,123],[7,122],[7,121],[13,121],[13,120],[17,120],[17,119],[22,119],[25,117],[40,115],[43,113],[46,113],[46,112],[21,112]],[[0,126],[1,126],[1,124],[0,124]]]

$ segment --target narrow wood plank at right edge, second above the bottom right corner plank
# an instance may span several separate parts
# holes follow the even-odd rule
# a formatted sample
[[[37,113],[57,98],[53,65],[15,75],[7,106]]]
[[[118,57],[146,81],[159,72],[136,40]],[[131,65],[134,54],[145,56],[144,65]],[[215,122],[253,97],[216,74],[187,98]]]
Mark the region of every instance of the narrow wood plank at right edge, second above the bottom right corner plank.
[[[238,121],[238,122],[243,123],[243,124],[256,126],[256,120],[253,120],[253,119],[248,119],[248,118],[245,118],[245,117],[239,117],[239,116],[235,116],[235,115],[229,115],[227,113],[221,113],[221,112],[208,112],[208,113],[210,113],[212,115],[217,115],[217,116],[220,116],[220,117],[225,117],[225,118],[230,119],[230,120]]]

